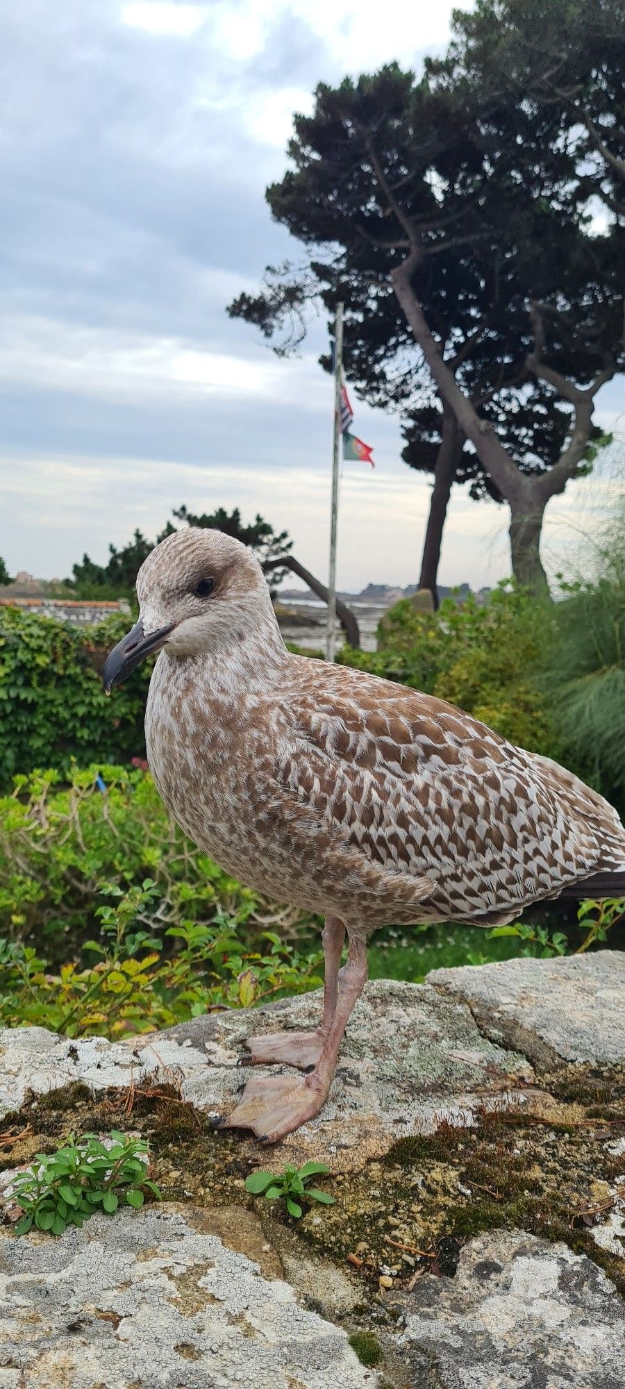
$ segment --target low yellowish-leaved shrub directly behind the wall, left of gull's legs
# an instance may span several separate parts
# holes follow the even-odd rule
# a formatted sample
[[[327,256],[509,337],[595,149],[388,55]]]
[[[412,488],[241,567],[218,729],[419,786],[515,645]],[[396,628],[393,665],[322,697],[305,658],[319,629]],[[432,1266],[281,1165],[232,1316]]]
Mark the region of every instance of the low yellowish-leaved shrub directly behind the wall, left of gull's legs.
[[[0,1024],[38,1025],[65,1036],[154,1032],[186,1022],[214,1007],[251,1007],[282,993],[321,985],[321,951],[304,954],[261,933],[254,949],[225,915],[193,922],[176,914],[165,928],[175,943],[143,924],[156,925],[156,885],[146,879],[122,893],[108,888],[111,904],[99,907],[99,938],[85,943],[96,964],[68,961],[51,974],[32,946],[0,938]]]

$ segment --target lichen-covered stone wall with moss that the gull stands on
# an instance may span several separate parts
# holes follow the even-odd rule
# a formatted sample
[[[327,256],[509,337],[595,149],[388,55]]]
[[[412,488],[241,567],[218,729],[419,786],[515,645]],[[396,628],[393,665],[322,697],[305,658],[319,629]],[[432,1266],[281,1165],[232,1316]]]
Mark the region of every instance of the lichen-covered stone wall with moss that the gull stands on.
[[[624,1389],[624,1003],[617,951],[371,982],[274,1149],[211,1118],[243,1039],[310,1028],[319,993],[115,1043],[1,1032],[1,1389]],[[15,1167],[111,1128],[164,1201],[15,1239]],[[246,1195],[310,1158],[335,1204]]]

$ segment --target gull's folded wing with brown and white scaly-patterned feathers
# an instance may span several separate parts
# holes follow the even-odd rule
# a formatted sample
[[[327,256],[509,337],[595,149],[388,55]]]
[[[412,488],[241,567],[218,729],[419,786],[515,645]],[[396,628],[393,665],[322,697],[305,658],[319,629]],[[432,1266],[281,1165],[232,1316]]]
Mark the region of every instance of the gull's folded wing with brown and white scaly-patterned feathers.
[[[362,860],[433,881],[442,907],[474,918],[554,896],[610,838],[625,858],[600,796],[442,700],[335,667],[282,707],[283,789]]]

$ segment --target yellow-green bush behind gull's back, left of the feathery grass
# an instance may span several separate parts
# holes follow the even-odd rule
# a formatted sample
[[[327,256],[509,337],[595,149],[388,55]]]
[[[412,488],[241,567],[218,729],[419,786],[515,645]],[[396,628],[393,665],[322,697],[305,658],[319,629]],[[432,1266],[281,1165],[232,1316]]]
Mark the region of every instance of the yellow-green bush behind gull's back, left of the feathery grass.
[[[343,646],[339,660],[458,704],[512,743],[557,757],[538,679],[553,622],[547,604],[511,582],[485,604],[472,594],[461,606],[444,599],[438,613],[400,599],[379,624],[378,650]]]

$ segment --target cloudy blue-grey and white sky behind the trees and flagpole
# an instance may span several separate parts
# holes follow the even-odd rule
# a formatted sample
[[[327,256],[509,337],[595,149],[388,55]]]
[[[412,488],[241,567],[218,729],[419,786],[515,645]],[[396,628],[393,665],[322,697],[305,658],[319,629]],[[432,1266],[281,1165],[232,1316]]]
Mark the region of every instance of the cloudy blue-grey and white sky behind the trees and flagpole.
[[[444,47],[447,0],[21,0],[0,39],[0,554],[67,575],[171,507],[240,506],[326,572],[332,401],[319,338],[279,361],[225,304],[297,258],[264,203],[319,79]],[[606,388],[600,419],[624,401]],[[622,422],[622,421],[621,421]],[[397,422],[357,403],[339,583],[408,583],[428,483]],[[615,453],[607,468],[618,468]],[[561,558],[601,481],[551,504]],[[508,571],[506,513],[458,489],[442,581]]]

